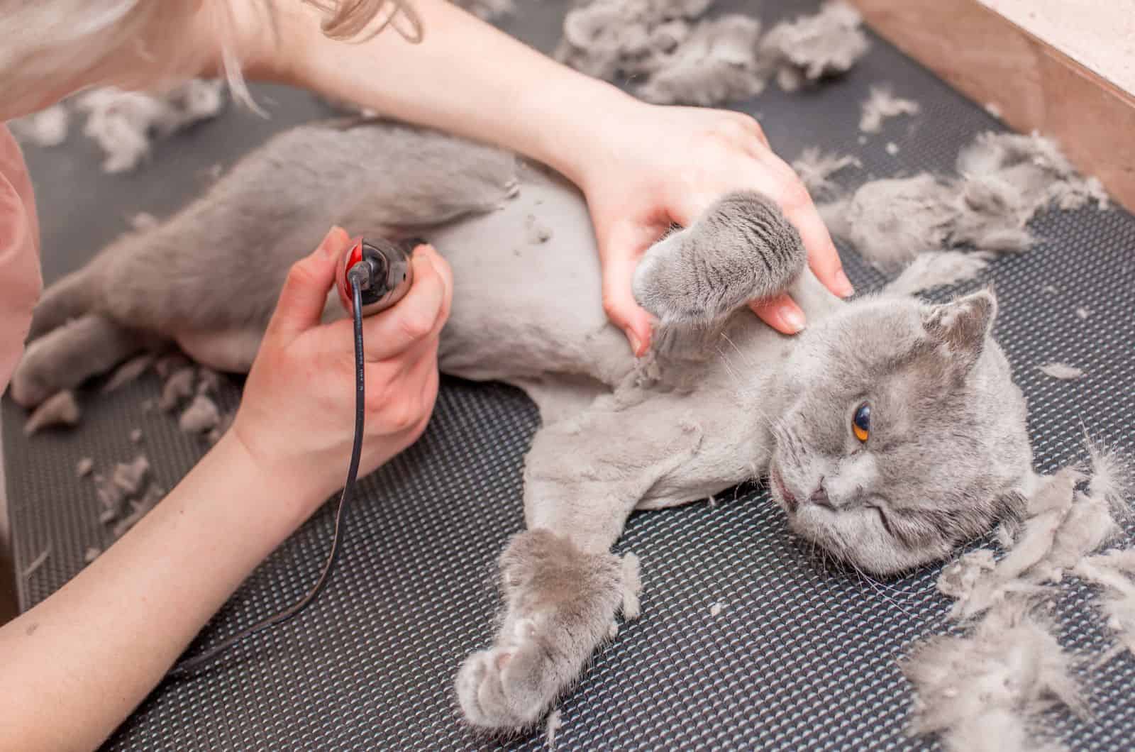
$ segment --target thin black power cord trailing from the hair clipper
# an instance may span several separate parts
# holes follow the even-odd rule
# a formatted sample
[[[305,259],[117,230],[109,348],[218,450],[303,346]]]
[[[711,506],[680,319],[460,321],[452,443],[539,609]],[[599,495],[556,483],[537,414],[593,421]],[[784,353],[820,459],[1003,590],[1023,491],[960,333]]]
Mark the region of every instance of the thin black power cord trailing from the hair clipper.
[[[323,571],[319,575],[319,579],[316,580],[314,586],[308,591],[308,594],[294,604],[284,609],[279,613],[259,621],[247,629],[243,629],[232,637],[221,641],[200,655],[180,660],[174,666],[173,669],[170,669],[167,676],[180,677],[190,671],[199,669],[245,637],[254,635],[262,629],[267,629],[268,627],[276,626],[277,624],[283,624],[292,617],[299,615],[316,600],[316,596],[323,590],[323,585],[327,584],[328,578],[331,576],[331,570],[335,568],[335,562],[338,559],[339,549],[342,548],[340,541],[343,536],[343,528],[345,527],[347,507],[351,501],[351,495],[354,493],[355,479],[359,475],[359,456],[362,452],[362,427],[367,404],[364,391],[365,368],[363,365],[362,350],[362,287],[370,284],[370,281],[365,278],[368,275],[369,270],[363,270],[362,268],[352,269],[347,274],[347,278],[351,281],[352,302],[354,303],[352,306],[352,312],[354,315],[355,343],[355,437],[354,445],[351,448],[351,465],[347,467],[347,482],[343,485],[343,493],[339,494],[338,509],[335,511],[335,533],[331,536],[331,551],[327,555],[327,563],[323,565]]]

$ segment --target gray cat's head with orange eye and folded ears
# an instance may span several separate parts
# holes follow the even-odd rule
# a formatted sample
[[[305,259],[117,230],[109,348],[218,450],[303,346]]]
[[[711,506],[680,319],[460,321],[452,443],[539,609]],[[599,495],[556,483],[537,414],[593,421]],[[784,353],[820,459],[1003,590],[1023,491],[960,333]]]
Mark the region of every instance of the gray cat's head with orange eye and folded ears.
[[[793,530],[886,575],[1017,511],[1032,450],[995,314],[992,291],[864,299],[800,335],[770,468]]]

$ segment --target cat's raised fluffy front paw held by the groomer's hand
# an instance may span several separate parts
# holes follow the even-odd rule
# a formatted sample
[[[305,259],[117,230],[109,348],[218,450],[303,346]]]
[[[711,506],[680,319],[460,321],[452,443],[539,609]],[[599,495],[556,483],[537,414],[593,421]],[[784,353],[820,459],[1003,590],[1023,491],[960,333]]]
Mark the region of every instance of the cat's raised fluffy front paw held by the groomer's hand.
[[[663,323],[709,324],[783,292],[806,259],[800,234],[775,203],[735,191],[647,251],[634,298]]]

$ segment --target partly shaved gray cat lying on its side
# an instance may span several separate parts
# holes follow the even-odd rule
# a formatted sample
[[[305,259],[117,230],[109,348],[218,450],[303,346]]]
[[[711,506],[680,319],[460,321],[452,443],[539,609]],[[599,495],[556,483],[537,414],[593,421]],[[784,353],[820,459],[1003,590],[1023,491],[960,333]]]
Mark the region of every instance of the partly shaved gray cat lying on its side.
[[[805,268],[775,206],[738,192],[644,258],[634,292],[659,324],[636,360],[604,316],[573,186],[494,149],[375,122],[277,136],[163,225],[53,285],[12,395],[35,404],[162,340],[246,369],[288,266],[331,223],[428,239],[456,281],[442,370],[519,385],[540,408],[528,530],[499,560],[503,619],[456,678],[476,727],[537,722],[620,609],[637,616],[637,559],[611,553],[634,509],[767,476],[793,530],[890,575],[948,555],[1032,487],[991,291],[846,303]],[[739,311],[784,290],[809,320],[798,336]],[[326,316],[342,315],[329,298]]]

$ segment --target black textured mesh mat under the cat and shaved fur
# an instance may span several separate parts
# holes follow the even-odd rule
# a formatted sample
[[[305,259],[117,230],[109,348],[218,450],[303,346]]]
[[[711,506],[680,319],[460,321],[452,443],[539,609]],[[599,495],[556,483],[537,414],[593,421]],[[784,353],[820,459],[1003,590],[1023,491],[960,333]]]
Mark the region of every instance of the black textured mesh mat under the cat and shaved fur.
[[[762,15],[774,20],[785,5],[768,0]],[[504,26],[549,50],[563,8],[526,5]],[[859,144],[859,102],[881,82],[920,101],[923,114],[891,120]],[[77,266],[121,231],[118,216],[168,211],[200,190],[200,170],[210,162],[232,161],[266,131],[318,110],[305,94],[261,93],[275,106],[271,124],[229,114],[159,147],[157,164],[133,176],[98,174],[85,145],[33,150],[49,276]],[[849,172],[848,184],[950,172],[974,134],[1000,127],[878,39],[847,78],[815,92],[771,90],[743,109],[759,115],[789,159],[808,145],[858,156],[865,167]],[[888,142],[897,154],[888,153]],[[96,206],[86,198],[92,194]],[[1052,470],[1081,458],[1084,428],[1135,450],[1135,219],[1085,209],[1045,215],[1035,229],[1040,247],[997,262],[990,276],[1001,300],[1000,339],[1031,406],[1037,466]],[[844,260],[859,287],[880,283],[852,254]],[[1086,319],[1075,316],[1078,307],[1088,310]],[[1052,360],[1087,375],[1058,382],[1036,370]],[[81,427],[32,441],[20,434],[22,411],[5,402],[17,569],[52,546],[19,584],[23,608],[77,573],[86,546],[107,543],[93,488],[73,477],[78,458],[129,459],[127,434],[141,427],[158,479],[169,487],[200,457],[201,448],[171,420],[143,412],[157,388],[151,376],[107,399],[89,395]],[[235,385],[227,398],[237,399]],[[516,391],[446,381],[422,441],[362,483],[342,567],[319,602],[207,676],[162,684],[107,749],[491,746],[462,726],[451,685],[464,655],[490,638],[494,561],[522,525],[521,458],[536,425],[535,409]],[[329,541],[328,512],[257,570],[197,647],[275,612],[309,586]],[[948,601],[934,592],[936,568],[884,585],[825,570],[759,486],[730,491],[715,504],[634,515],[617,548],[642,558],[642,618],[623,626],[562,701],[560,749],[928,746],[905,735],[911,697],[896,659],[913,641],[953,628],[944,619]],[[1102,649],[1090,592],[1073,584],[1061,593],[1054,603],[1061,641],[1079,651]],[[1135,661],[1124,655],[1084,669],[1083,678],[1094,720],[1054,712],[1058,733],[1076,749],[1129,749]],[[540,729],[508,746],[544,743]]]

